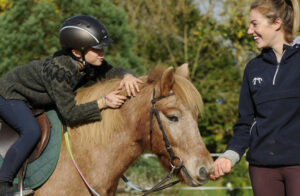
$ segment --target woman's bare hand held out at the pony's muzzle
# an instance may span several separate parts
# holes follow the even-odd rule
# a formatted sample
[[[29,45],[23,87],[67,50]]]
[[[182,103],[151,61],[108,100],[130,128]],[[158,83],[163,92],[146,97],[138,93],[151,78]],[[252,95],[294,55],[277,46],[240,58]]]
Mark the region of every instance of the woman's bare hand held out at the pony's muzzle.
[[[222,176],[225,176],[226,174],[231,172],[232,167],[232,161],[230,159],[219,157],[217,160],[215,160],[214,163],[214,170],[210,174],[211,180],[216,180]]]

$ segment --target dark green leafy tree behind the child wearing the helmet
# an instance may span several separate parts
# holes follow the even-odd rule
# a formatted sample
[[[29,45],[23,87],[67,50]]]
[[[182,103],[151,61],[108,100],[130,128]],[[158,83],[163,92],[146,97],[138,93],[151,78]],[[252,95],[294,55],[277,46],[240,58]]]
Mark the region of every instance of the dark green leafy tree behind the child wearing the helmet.
[[[140,59],[132,52],[135,35],[127,25],[125,12],[109,1],[13,0],[0,15],[0,75],[59,50],[61,24],[79,14],[94,16],[106,25],[115,41],[107,49],[107,59],[111,64],[143,72]]]

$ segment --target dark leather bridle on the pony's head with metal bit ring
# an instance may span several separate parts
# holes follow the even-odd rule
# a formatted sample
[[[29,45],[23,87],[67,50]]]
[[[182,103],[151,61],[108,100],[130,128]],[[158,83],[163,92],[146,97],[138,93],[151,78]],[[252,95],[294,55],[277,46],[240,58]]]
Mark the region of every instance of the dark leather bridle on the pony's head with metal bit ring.
[[[163,140],[165,142],[165,147],[170,155],[170,166],[171,166],[171,171],[168,173],[168,175],[163,178],[159,183],[157,183],[155,186],[153,186],[151,189],[149,190],[144,190],[143,192],[145,192],[145,195],[148,195],[152,192],[156,192],[156,191],[160,191],[160,190],[163,190],[163,189],[166,189],[170,186],[173,186],[175,184],[177,184],[178,182],[180,182],[180,180],[176,180],[174,182],[170,182],[166,185],[163,185],[164,183],[166,183],[167,181],[169,181],[174,173],[175,170],[180,170],[182,167],[183,167],[183,164],[182,164],[182,160],[175,155],[170,143],[169,143],[169,140],[168,140],[168,137],[166,135],[166,132],[162,126],[162,122],[161,122],[161,119],[160,119],[160,116],[159,116],[159,112],[157,110],[157,108],[155,107],[155,104],[160,101],[161,99],[163,98],[166,98],[166,97],[169,97],[169,96],[172,96],[174,95],[174,93],[169,93],[168,95],[166,96],[159,96],[159,97],[155,97],[155,89],[153,89],[153,98],[151,100],[151,104],[152,104],[152,107],[151,107],[151,111],[150,111],[150,148],[152,149],[152,128],[153,128],[153,116],[156,117],[156,120],[157,120],[157,123],[158,123],[158,126],[159,126],[159,129],[163,135]],[[179,164],[175,164],[175,160],[179,160]]]

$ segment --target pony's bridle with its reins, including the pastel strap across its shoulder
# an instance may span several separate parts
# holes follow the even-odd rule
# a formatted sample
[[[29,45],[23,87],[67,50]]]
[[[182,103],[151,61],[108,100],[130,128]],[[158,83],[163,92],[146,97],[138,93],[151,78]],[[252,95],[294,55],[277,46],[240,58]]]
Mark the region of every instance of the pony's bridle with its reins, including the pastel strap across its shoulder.
[[[154,185],[151,189],[149,190],[146,190],[146,189],[142,189],[140,187],[137,187],[135,185],[133,185],[124,175],[121,176],[122,180],[128,185],[130,186],[131,188],[133,188],[134,190],[136,191],[139,191],[139,192],[144,192],[143,196],[146,196],[150,193],[153,193],[153,192],[157,192],[157,191],[161,191],[161,190],[164,190],[168,187],[171,187],[175,184],[177,184],[178,182],[180,182],[180,180],[176,180],[176,181],[173,181],[173,182],[170,182],[166,185],[164,185],[166,182],[168,182],[169,180],[171,180],[172,178],[172,175],[174,173],[175,170],[180,170],[182,168],[184,168],[183,164],[182,164],[182,160],[175,155],[172,147],[170,146],[170,143],[169,143],[169,140],[168,140],[168,137],[166,135],[166,132],[162,126],[162,122],[161,122],[161,119],[160,119],[160,116],[159,116],[159,112],[158,110],[156,109],[155,107],[155,104],[160,101],[161,99],[163,98],[166,98],[166,97],[169,97],[169,96],[172,96],[174,95],[174,93],[169,93],[167,96],[159,96],[159,97],[155,97],[155,89],[153,89],[153,98],[151,100],[151,104],[152,104],[152,107],[151,107],[151,111],[150,111],[150,130],[149,130],[149,133],[150,133],[150,148],[152,149],[152,128],[153,128],[153,116],[156,117],[156,120],[157,120],[157,123],[158,123],[158,126],[161,130],[161,133],[163,135],[163,140],[165,142],[165,147],[170,155],[170,166],[171,166],[171,171],[167,174],[167,176],[165,178],[163,178],[159,183],[157,183],[156,185]],[[90,185],[89,183],[87,182],[87,180],[84,178],[82,172],[80,171],[78,165],[76,164],[76,161],[74,160],[74,157],[73,157],[73,154],[72,154],[72,150],[71,150],[71,146],[70,146],[70,142],[69,142],[69,137],[68,137],[68,130],[67,130],[67,126],[65,125],[65,123],[63,123],[63,132],[64,132],[64,136],[65,136],[65,140],[66,140],[66,145],[67,145],[67,149],[68,149],[68,152],[70,154],[70,157],[73,161],[73,164],[75,166],[75,168],[77,169],[78,173],[80,174],[82,180],[84,181],[84,183],[87,185],[87,187],[89,188],[89,190],[96,196],[100,196],[99,193],[97,193]],[[175,164],[175,160],[179,160],[179,164]]]

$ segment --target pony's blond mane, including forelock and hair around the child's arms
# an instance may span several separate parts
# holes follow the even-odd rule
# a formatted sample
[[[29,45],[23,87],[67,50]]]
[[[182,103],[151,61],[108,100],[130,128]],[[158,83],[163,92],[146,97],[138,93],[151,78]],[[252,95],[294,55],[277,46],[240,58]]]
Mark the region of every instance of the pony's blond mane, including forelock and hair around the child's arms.
[[[142,88],[159,82],[164,68],[153,69],[148,75],[148,81]],[[99,99],[101,96],[117,89],[120,79],[97,82],[96,84],[81,89],[77,92],[76,103],[83,104]],[[186,78],[175,74],[175,83],[172,91],[195,115],[202,114],[203,102],[200,93]],[[122,92],[125,95],[125,91]],[[150,106],[149,106],[150,107]],[[114,134],[123,131],[124,119],[119,109],[105,109],[101,111],[101,121],[82,124],[69,128],[70,136],[78,135],[82,142],[107,144],[114,137]]]

